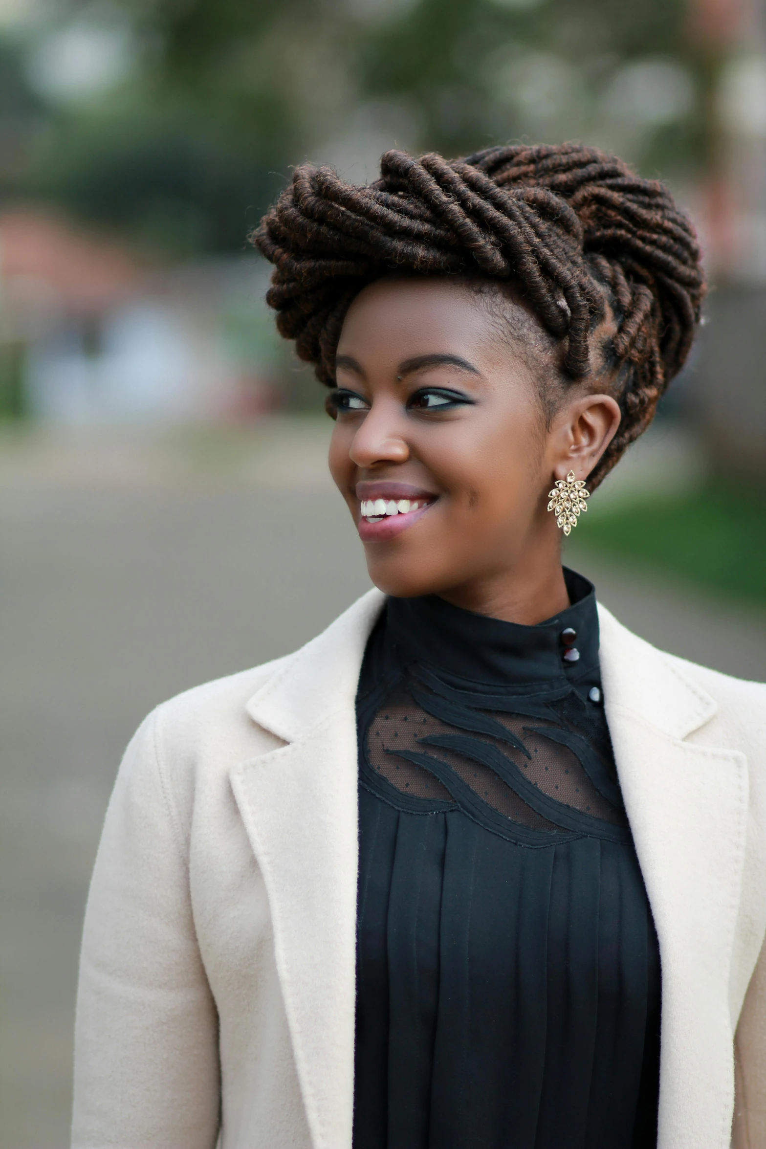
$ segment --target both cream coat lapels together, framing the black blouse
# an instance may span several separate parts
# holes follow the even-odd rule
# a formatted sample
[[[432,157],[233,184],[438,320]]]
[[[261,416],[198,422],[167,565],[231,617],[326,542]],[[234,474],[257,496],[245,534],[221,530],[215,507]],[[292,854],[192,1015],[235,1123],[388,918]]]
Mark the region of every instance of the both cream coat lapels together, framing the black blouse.
[[[351,1146],[354,703],[364,647],[384,602],[380,592],[369,592],[249,700],[250,717],[286,745],[241,763],[231,776],[268,890],[314,1149]],[[722,1147],[733,1101],[728,985],[746,763],[736,751],[684,741],[717,704],[683,663],[636,638],[604,608],[599,625],[606,718],[663,965],[658,1146]],[[720,1136],[711,1136],[713,1128]]]

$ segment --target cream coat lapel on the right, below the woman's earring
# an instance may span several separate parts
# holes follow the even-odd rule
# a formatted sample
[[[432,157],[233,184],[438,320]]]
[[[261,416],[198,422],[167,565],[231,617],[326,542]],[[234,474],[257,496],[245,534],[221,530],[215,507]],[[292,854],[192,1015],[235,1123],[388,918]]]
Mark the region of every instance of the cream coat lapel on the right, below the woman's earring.
[[[746,762],[684,741],[715,712],[713,700],[603,609],[599,623],[606,717],[661,958],[658,1146],[725,1149]]]

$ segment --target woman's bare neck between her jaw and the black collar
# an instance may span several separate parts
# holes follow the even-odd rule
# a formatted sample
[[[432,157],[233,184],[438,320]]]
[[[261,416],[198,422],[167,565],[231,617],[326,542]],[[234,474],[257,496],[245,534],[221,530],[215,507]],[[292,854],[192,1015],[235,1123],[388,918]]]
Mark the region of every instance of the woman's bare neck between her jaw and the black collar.
[[[555,555],[520,561],[510,570],[439,594],[454,607],[524,626],[535,626],[570,606],[558,547]]]

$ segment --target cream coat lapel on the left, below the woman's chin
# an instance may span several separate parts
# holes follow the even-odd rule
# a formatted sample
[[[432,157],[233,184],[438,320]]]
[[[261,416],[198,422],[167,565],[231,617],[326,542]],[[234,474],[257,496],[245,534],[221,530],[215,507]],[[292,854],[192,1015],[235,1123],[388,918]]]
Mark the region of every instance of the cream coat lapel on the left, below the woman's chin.
[[[350,1149],[357,882],[356,686],[384,596],[370,592],[248,703],[286,745],[232,788],[265,882],[315,1149]]]

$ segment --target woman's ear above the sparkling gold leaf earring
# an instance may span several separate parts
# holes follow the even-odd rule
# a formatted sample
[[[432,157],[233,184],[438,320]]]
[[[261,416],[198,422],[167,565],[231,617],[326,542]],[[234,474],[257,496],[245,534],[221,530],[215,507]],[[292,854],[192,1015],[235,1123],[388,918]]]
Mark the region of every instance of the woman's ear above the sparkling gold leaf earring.
[[[557,479],[570,471],[587,479],[617,434],[620,409],[611,395],[582,395],[558,412],[549,439],[549,462]]]

